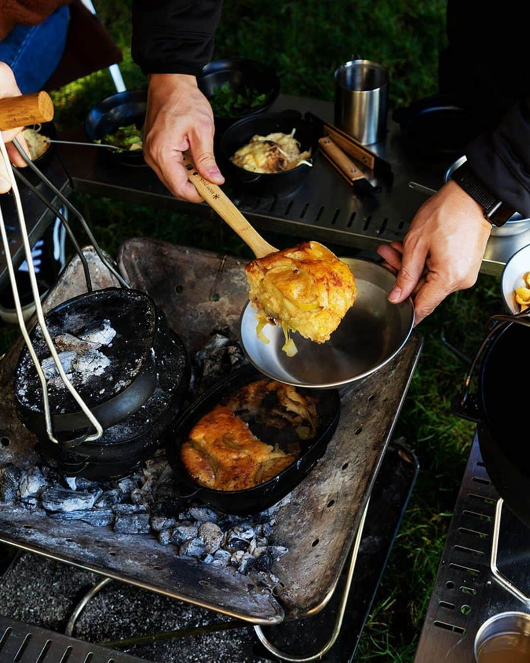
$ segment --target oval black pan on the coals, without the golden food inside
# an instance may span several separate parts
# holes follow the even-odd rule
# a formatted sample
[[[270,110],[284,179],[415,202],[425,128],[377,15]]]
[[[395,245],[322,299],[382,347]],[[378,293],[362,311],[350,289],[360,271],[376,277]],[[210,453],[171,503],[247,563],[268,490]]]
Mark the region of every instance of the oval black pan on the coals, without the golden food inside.
[[[191,479],[180,459],[180,448],[187,440],[189,430],[195,426],[201,416],[207,414],[224,398],[244,385],[263,378],[264,375],[256,371],[254,367],[244,366],[197,398],[176,421],[166,436],[166,452],[181,495],[201,499],[214,509],[225,513],[240,515],[258,513],[272,507],[290,493],[324,455],[341,416],[341,398],[337,389],[311,389],[311,396],[319,397],[317,435],[313,440],[302,442],[303,450],[298,459],[276,477],[241,491],[219,491],[205,488]],[[250,424],[250,429],[252,430],[252,424]],[[268,444],[274,444],[276,441],[265,438],[263,440]]]

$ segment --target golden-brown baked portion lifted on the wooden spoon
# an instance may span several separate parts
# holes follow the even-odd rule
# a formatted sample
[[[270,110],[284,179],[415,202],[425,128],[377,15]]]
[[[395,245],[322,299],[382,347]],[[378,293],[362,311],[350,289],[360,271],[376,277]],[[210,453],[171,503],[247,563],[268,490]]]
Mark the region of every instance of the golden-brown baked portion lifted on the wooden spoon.
[[[356,299],[348,265],[319,242],[270,253],[245,266],[258,321],[274,321],[317,343],[328,341]]]

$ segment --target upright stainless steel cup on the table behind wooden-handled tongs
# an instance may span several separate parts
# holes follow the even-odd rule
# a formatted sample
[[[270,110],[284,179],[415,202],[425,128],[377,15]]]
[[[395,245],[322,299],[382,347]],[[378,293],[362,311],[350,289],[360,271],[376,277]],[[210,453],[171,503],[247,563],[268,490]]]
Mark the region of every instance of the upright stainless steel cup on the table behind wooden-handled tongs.
[[[388,72],[370,60],[352,60],[335,71],[335,125],[372,145],[386,133]]]

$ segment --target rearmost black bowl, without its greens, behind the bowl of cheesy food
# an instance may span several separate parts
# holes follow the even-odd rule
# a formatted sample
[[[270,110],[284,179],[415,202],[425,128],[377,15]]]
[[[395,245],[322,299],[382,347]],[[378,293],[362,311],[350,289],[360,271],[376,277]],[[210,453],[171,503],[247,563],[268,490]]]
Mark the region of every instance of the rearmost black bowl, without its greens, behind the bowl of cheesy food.
[[[227,129],[231,124],[242,117],[250,117],[257,113],[263,113],[278,99],[280,93],[280,79],[271,67],[262,62],[235,58],[230,60],[215,60],[203,67],[201,76],[197,78],[199,90],[207,99],[213,97],[213,93],[223,83],[229,81],[233,90],[237,93],[242,88],[254,88],[260,94],[266,94],[266,101],[262,105],[250,109],[246,113],[234,116],[215,115],[215,125],[220,131]]]

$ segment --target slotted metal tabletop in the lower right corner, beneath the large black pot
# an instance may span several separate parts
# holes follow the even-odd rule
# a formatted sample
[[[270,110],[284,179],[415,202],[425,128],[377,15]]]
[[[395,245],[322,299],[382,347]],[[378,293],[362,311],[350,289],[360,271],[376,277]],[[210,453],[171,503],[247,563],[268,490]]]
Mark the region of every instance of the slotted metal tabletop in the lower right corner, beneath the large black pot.
[[[442,554],[415,663],[474,663],[474,638],[486,621],[505,611],[529,612],[490,570],[498,493],[474,438]],[[530,590],[530,530],[505,507],[498,564],[520,589]]]

